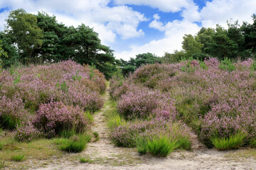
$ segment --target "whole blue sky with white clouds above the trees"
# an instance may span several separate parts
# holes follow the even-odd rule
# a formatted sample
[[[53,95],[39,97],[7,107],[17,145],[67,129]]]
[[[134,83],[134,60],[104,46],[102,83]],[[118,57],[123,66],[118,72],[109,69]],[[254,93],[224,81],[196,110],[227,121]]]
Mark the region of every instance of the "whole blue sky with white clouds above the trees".
[[[139,53],[181,50],[184,34],[201,27],[226,26],[233,18],[252,23],[256,0],[0,0],[0,30],[9,11],[46,11],[67,26],[94,28],[115,57],[129,60]]]

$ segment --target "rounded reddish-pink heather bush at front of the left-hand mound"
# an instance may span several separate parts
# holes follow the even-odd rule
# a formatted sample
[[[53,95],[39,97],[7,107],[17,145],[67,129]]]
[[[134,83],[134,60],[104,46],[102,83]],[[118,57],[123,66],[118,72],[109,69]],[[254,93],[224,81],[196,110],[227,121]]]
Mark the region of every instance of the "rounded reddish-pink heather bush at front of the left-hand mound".
[[[32,123],[48,137],[59,135],[62,130],[82,132],[88,128],[83,111],[78,106],[66,106],[61,101],[39,106]]]

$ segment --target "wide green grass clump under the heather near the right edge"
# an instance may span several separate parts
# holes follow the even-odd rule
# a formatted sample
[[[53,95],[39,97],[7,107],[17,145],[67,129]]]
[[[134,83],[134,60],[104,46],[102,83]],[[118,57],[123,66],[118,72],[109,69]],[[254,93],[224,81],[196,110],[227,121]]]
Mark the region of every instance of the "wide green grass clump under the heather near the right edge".
[[[245,132],[237,132],[230,137],[212,137],[210,141],[218,150],[228,150],[241,147],[245,144],[247,134]]]

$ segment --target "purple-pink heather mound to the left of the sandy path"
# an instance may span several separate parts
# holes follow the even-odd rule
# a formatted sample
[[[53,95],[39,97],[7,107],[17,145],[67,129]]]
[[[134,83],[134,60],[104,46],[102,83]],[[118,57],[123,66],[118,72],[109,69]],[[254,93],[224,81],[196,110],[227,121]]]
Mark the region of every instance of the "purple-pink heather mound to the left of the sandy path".
[[[68,60],[11,67],[0,72],[0,126],[16,130],[18,141],[90,129],[100,110],[105,78],[94,67]]]

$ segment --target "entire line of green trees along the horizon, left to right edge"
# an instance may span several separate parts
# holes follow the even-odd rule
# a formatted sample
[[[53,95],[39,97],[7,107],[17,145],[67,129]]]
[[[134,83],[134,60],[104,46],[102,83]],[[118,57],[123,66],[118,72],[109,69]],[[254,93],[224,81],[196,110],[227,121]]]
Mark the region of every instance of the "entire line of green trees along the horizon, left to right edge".
[[[74,60],[95,66],[106,79],[113,75],[127,76],[143,64],[175,63],[183,59],[204,60],[218,57],[246,60],[256,56],[256,15],[253,23],[228,21],[228,28],[201,28],[196,35],[184,35],[182,50],[158,57],[150,52],[130,58],[114,58],[113,50],[102,45],[98,34],[81,24],[78,27],[58,23],[46,12],[36,15],[22,8],[11,11],[6,27],[0,31],[0,68],[13,64],[42,64]]]

